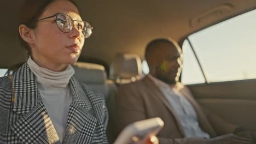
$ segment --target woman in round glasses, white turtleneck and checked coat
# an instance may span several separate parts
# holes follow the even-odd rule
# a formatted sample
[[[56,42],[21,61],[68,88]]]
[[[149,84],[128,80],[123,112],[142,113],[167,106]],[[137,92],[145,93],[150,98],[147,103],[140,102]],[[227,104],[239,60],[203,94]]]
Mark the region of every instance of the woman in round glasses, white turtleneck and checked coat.
[[[108,143],[103,96],[72,76],[91,33],[73,1],[26,0],[19,39],[28,59],[0,77],[0,143]]]

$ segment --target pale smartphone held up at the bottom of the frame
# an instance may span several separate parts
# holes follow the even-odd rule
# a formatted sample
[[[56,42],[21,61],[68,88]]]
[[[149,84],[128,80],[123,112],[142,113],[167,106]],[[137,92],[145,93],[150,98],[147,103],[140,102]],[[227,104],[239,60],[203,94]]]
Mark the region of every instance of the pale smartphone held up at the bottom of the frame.
[[[131,123],[121,131],[114,144],[143,143],[149,136],[158,134],[162,127],[164,122],[159,117]]]

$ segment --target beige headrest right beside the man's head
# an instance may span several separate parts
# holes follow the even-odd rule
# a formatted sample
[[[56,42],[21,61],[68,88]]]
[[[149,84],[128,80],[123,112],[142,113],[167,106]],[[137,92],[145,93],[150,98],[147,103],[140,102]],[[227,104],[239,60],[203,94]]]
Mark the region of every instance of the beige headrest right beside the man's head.
[[[136,81],[142,75],[142,63],[139,56],[131,53],[118,53],[109,67],[109,79]]]

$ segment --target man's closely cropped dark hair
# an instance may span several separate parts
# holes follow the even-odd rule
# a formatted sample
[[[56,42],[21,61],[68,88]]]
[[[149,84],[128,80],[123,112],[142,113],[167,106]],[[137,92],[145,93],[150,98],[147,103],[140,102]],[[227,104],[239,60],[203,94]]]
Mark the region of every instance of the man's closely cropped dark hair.
[[[161,39],[154,39],[152,41],[150,41],[148,43],[148,45],[146,46],[146,52],[145,52],[145,58],[146,60],[149,58],[150,52],[152,52],[152,50],[156,49],[158,44],[160,43],[168,43],[168,44],[172,44],[173,46],[175,46],[178,51],[181,51],[181,47],[179,47],[179,45],[176,43],[176,41],[172,40],[172,39],[165,39],[165,38],[161,38]]]

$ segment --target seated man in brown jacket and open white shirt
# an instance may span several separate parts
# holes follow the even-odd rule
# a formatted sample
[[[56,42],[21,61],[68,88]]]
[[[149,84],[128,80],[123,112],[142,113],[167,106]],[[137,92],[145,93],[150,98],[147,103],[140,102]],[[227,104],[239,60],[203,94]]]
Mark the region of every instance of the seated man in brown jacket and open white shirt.
[[[182,51],[175,41],[151,41],[146,47],[146,60],[150,73],[119,88],[117,131],[135,121],[160,117],[165,123],[158,134],[160,144],[254,143],[252,131],[241,130],[212,113],[207,115],[189,89],[178,82]],[[234,131],[236,135],[231,134]]]

